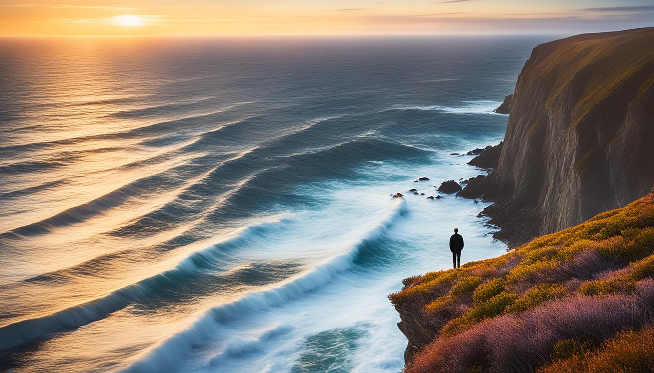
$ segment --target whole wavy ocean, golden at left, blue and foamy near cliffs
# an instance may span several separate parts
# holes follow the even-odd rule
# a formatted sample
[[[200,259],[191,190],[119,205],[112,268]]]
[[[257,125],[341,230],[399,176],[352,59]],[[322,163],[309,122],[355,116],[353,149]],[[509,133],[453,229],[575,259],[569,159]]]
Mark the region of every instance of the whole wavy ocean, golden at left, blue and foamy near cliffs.
[[[399,372],[387,295],[506,251],[426,197],[555,38],[0,40],[0,369]]]

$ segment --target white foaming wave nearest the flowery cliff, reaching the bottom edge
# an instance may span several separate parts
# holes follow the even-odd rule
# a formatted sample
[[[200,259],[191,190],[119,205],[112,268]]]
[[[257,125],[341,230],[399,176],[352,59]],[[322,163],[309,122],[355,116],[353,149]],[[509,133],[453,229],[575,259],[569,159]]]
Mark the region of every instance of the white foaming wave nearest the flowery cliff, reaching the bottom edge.
[[[366,236],[353,244],[349,250],[275,287],[249,293],[232,302],[209,308],[186,329],[169,336],[142,353],[136,361],[126,368],[126,372],[164,372],[171,370],[184,354],[190,351],[198,342],[211,335],[212,331],[216,331],[220,324],[237,320],[252,312],[261,312],[282,306],[330,283],[342,272],[353,268],[361,248],[383,236],[385,231],[398,218],[404,216],[406,212],[404,199],[394,201],[390,214],[371,229]]]

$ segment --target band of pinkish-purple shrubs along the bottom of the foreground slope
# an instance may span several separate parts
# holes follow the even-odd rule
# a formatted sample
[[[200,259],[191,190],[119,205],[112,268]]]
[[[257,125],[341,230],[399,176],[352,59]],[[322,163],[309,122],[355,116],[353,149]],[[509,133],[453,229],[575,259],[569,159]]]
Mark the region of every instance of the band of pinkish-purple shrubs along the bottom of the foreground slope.
[[[533,372],[557,356],[557,343],[561,358],[574,355],[574,346],[567,346],[572,351],[566,351],[561,340],[583,341],[583,348],[590,349],[618,332],[651,325],[653,300],[642,299],[638,293],[551,300],[436,338],[415,355],[406,373],[465,373],[477,366],[483,372]]]

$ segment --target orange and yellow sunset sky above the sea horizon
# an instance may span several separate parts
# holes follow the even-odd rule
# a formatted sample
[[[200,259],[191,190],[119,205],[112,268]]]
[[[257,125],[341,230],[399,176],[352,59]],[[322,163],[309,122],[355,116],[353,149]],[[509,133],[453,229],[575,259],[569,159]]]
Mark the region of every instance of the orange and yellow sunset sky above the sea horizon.
[[[1,36],[573,34],[654,25],[654,0],[0,0]]]

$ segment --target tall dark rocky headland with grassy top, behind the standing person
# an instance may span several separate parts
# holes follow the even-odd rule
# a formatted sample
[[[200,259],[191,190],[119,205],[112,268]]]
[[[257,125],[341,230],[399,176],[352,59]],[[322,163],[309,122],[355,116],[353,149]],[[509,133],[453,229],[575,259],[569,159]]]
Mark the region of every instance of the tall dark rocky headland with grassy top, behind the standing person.
[[[515,87],[498,167],[466,197],[521,244],[625,206],[654,186],[654,27],[534,48]]]

